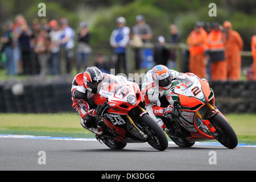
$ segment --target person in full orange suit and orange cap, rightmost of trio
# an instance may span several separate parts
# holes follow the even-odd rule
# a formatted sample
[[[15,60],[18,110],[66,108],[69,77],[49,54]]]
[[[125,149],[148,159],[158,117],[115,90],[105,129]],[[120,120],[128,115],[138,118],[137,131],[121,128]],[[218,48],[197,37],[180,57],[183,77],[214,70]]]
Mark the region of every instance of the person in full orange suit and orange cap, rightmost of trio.
[[[237,31],[232,30],[232,23],[225,21],[224,26],[224,45],[225,57],[228,67],[228,79],[237,81],[241,76],[241,55],[243,40]]]

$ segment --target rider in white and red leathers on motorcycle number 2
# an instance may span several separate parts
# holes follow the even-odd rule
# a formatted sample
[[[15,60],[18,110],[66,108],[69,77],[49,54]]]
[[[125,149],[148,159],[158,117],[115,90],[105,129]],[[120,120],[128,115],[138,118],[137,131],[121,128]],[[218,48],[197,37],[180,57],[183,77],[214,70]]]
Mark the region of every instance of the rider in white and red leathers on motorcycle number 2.
[[[168,69],[164,65],[156,65],[144,76],[141,91],[146,101],[146,110],[163,129],[166,128],[166,125],[160,117],[168,117],[168,115],[172,114],[174,110],[173,104],[177,95],[171,92],[171,89],[174,85],[179,84],[179,81],[175,81],[175,78],[183,74],[200,79],[193,73],[180,73]],[[201,80],[207,81],[204,78]],[[160,107],[159,98],[163,96],[170,103],[167,107]]]

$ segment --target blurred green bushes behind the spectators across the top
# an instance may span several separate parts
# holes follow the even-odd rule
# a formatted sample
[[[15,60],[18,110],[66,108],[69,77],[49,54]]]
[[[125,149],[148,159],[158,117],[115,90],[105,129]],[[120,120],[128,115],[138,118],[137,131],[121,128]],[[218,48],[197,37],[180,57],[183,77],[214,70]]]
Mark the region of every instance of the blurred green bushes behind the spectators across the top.
[[[0,24],[13,19],[21,13],[30,22],[38,18],[38,3],[41,0],[0,0]],[[136,23],[138,14],[144,15],[152,27],[154,38],[159,35],[168,38],[168,26],[175,23],[183,36],[183,42],[197,21],[218,22],[230,20],[244,42],[245,50],[250,50],[250,38],[256,25],[255,0],[44,0],[47,7],[47,19],[66,17],[71,26],[77,30],[79,21],[89,20],[94,46],[109,46],[109,36],[116,26],[115,19],[124,16],[130,28]],[[217,17],[208,15],[209,3],[216,3]],[[82,14],[83,11],[89,13]],[[97,11],[100,9],[100,11]],[[95,11],[94,11],[95,10]],[[84,15],[83,18],[81,15]],[[93,17],[93,18],[91,18]],[[0,27],[0,33],[3,26]]]

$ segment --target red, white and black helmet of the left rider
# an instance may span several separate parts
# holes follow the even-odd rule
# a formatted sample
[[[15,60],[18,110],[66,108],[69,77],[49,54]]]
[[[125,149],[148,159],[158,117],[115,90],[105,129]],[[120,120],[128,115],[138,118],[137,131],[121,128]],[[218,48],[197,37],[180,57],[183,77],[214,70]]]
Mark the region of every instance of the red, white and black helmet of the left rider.
[[[100,91],[103,73],[97,67],[88,67],[84,72],[85,89],[92,93]]]

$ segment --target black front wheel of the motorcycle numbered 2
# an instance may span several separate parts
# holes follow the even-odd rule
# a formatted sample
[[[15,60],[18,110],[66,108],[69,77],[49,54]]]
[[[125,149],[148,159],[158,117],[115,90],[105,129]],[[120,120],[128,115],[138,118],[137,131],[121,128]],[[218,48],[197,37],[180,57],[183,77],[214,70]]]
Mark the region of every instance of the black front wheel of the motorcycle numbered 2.
[[[210,118],[210,123],[212,123],[216,129],[213,136],[218,140],[218,142],[231,149],[237,146],[237,135],[228,121],[226,121],[221,114],[217,113]]]

